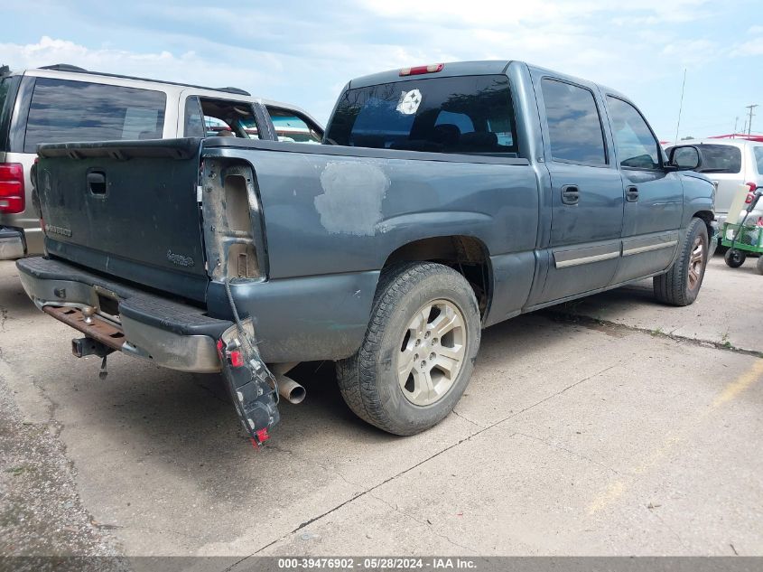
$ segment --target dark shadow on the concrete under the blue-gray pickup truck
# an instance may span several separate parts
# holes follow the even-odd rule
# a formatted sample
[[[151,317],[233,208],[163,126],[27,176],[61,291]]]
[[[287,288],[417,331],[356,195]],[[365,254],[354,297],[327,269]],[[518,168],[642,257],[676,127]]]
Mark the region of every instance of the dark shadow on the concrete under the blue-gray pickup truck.
[[[572,326],[577,327],[577,326]],[[510,384],[516,364],[526,361],[528,353],[554,352],[572,333],[570,324],[554,324],[544,314],[529,314],[483,331],[482,349],[475,374],[466,393],[479,399],[483,391],[494,393],[495,387],[478,386]],[[58,356],[61,358],[61,356]],[[224,382],[216,374],[190,374],[156,368],[115,354],[109,357],[109,374],[98,380],[100,361],[95,358],[73,361],[78,376],[77,400],[72,406],[79,409],[72,416],[91,417],[92,430],[102,428],[107,438],[116,442],[140,442],[146,448],[153,444],[177,446],[178,456],[183,447],[193,444],[194,456],[203,458],[212,453],[234,453],[249,447]],[[486,376],[485,373],[490,375]],[[496,380],[493,373],[501,374]],[[331,435],[346,445],[373,445],[394,442],[401,437],[391,436],[358,419],[340,395],[335,379],[334,364],[329,361],[305,362],[290,372],[307,390],[307,398],[299,405],[283,399],[279,406],[281,423],[272,432],[273,439],[265,450],[293,450],[305,446],[313,436]],[[539,382],[543,382],[539,380]],[[50,390],[56,380],[46,380]],[[486,397],[485,399],[489,399]],[[416,437],[414,437],[416,438]],[[167,453],[170,449],[162,447]],[[240,454],[240,451],[239,451]]]

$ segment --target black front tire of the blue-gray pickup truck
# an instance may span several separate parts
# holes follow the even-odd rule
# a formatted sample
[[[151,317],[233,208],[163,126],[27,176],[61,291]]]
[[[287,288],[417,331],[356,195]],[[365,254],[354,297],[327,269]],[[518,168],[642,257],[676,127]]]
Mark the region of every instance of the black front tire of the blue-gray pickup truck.
[[[693,252],[702,245],[701,258],[693,258]],[[686,230],[681,248],[673,266],[654,278],[655,297],[664,304],[684,306],[693,304],[702,287],[704,271],[707,267],[708,239],[704,220],[692,219]],[[695,262],[699,267],[695,267]],[[690,271],[692,267],[695,272]]]

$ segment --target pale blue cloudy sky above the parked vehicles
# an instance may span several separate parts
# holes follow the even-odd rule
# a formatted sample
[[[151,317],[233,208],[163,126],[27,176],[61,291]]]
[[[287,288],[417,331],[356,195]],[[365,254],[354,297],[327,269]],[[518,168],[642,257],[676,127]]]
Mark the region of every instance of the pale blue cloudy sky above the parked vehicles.
[[[521,60],[632,98],[662,140],[730,133],[759,103],[763,0],[0,0],[0,64],[70,63],[235,86],[321,123],[352,78],[427,63]],[[738,119],[737,119],[738,117]]]

